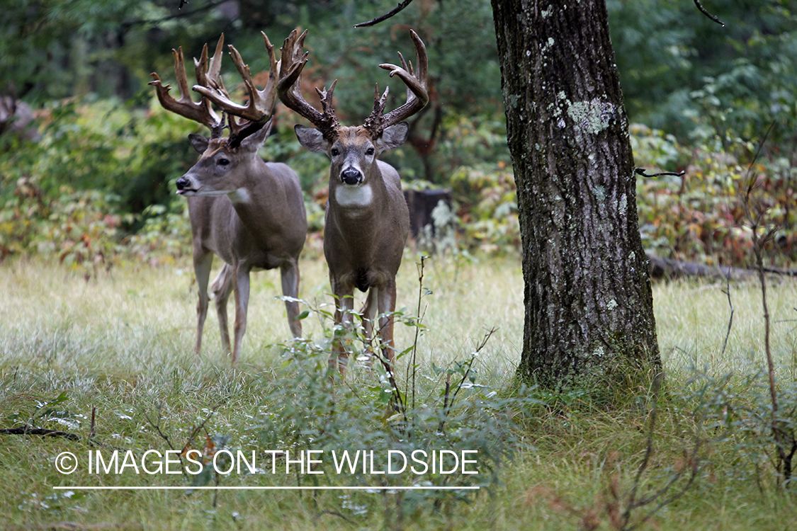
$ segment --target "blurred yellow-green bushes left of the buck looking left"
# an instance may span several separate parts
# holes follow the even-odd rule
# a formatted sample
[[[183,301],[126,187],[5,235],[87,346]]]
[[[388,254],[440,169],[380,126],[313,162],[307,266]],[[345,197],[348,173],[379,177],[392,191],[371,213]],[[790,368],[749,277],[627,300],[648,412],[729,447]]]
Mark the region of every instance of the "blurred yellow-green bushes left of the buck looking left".
[[[0,256],[56,254],[90,275],[111,267],[139,229],[139,252],[154,228],[159,242],[175,231],[190,241],[183,201],[169,190],[195,158],[185,141],[194,129],[155,106],[66,101],[42,111],[37,142],[0,137]]]

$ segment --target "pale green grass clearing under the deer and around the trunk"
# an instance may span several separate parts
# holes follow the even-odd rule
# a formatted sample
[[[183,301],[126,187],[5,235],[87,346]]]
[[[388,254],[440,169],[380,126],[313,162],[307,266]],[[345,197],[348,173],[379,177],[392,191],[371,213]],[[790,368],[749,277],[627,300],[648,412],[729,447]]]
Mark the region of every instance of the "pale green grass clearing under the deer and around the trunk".
[[[300,295],[308,307],[331,310],[324,261],[304,258],[301,267]],[[783,408],[793,409],[797,283],[773,282],[771,346]],[[409,254],[398,283],[398,307],[413,315],[418,268]],[[477,478],[439,474],[416,483],[411,474],[338,477],[328,467],[324,475],[200,474],[204,486],[482,487],[447,492],[53,490],[198,482],[179,470],[90,472],[85,460],[89,452],[108,456],[114,449],[138,458],[148,450],[183,450],[203,421],[191,447],[254,450],[265,468],[272,466],[266,450],[313,449],[322,441],[324,448],[335,443],[340,449],[384,450],[391,444],[404,448],[399,445],[407,440],[391,439],[395,417],[383,405],[379,371],[355,369],[334,392],[323,385],[329,323],[319,314],[304,320],[310,341],[290,351],[281,346],[289,329],[285,306],[274,299],[276,271],[253,275],[249,326],[234,369],[221,352],[212,305],[202,357],[194,357],[196,296],[187,260],[170,267],[118,267],[88,282],[65,267],[8,261],[0,265],[0,289],[0,428],[29,422],[80,436],[75,441],[0,435],[0,517],[6,529],[622,529],[634,485],[638,500],[670,482],[662,497],[631,511],[626,529],[687,483],[684,494],[662,504],[638,529],[797,529],[797,504],[775,485],[773,446],[761,428],[768,389],[759,370],[764,325],[755,283],[731,285],[735,313],[724,353],[730,313],[724,284],[655,285],[665,395],[656,401],[650,389],[641,388],[624,404],[606,408],[577,392],[532,391],[534,400],[512,395],[523,334],[518,260],[427,260],[418,419],[438,418],[444,369],[457,369],[488,330],[496,331],[474,358],[469,376],[475,385],[457,397],[446,435],[418,428],[422,435],[412,436],[438,448],[473,443],[495,450],[505,444],[512,451],[507,459],[479,454],[498,467],[495,474],[480,468]],[[233,314],[230,306],[231,320]],[[399,349],[413,344],[416,330],[397,324]],[[398,364],[402,386],[408,362],[406,356]],[[454,370],[452,382],[458,378]],[[90,438],[92,408],[96,435]],[[498,441],[503,433],[508,439]],[[653,452],[635,479],[649,433]],[[77,456],[73,474],[55,467],[65,451]],[[281,459],[274,463],[285,466]]]

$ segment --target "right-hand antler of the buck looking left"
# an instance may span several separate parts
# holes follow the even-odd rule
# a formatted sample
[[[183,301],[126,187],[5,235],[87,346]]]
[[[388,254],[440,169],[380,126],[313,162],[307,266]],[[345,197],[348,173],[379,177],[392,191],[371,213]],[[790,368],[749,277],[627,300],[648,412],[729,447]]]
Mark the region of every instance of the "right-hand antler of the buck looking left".
[[[233,45],[230,45],[230,57],[233,59],[235,68],[238,68],[238,73],[241,74],[246,92],[249,93],[248,103],[245,105],[235,103],[230,99],[230,95],[224,87],[219,84],[212,82],[203,84],[198,81],[198,84],[194,85],[195,92],[199,92],[204,98],[212,101],[222,111],[230,115],[230,139],[228,143],[233,148],[238,147],[243,139],[260,131],[268,123],[273,115],[274,103],[277,102],[277,80],[280,66],[277,58],[274,57],[274,47],[269,41],[269,37],[263,32],[261,32],[261,35],[263,36],[265,49],[269,53],[270,64],[269,81],[263,90],[257,90],[249,72],[249,65],[244,63],[238,50]],[[233,116],[237,116],[238,119],[234,119]]]

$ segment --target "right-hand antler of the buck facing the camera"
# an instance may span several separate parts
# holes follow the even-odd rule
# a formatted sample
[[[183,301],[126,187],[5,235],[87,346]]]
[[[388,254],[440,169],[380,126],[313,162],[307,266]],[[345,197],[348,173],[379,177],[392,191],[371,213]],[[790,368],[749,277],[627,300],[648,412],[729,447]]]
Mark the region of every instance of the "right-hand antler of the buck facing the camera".
[[[411,29],[410,37],[412,37],[412,41],[415,45],[415,64],[418,67],[416,71],[413,71],[412,63],[409,65],[406,63],[401,53],[398,53],[398,57],[401,59],[402,63],[401,67],[389,63],[379,64],[379,68],[384,68],[391,72],[391,77],[398,75],[404,84],[406,84],[406,103],[390,111],[387,115],[382,115],[384,104],[381,101],[379,102],[381,110],[378,108],[377,103],[374,103],[374,112],[372,112],[371,116],[366,120],[365,127],[367,127],[371,131],[371,135],[375,137],[379,136],[386,127],[390,127],[395,123],[409,118],[425,107],[426,103],[429,103],[429,93],[426,89],[426,75],[428,69],[426,46],[423,45],[421,37],[418,37],[418,33],[415,33]],[[387,98],[387,93],[383,98]]]

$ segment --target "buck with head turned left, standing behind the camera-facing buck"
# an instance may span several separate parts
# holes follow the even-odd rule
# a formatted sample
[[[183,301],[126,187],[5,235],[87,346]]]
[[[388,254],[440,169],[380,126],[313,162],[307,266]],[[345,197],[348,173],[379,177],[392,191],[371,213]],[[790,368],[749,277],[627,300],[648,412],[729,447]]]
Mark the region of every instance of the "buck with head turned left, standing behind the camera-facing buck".
[[[299,291],[299,255],[307,235],[307,217],[296,173],[285,164],[264,162],[257,155],[271,128],[279,69],[273,46],[265,33],[263,39],[271,70],[269,82],[262,91],[255,88],[249,76],[249,66],[243,64],[238,50],[230,45],[230,56],[249,92],[249,103],[245,106],[232,102],[221,84],[219,72],[224,35],[210,59],[210,67],[207,45],[202,49],[202,59],[194,60],[198,83],[194,85],[194,91],[202,94],[199,103],[194,103],[188,92],[182,49],[172,50],[180,99],[169,96],[169,85],[161,84],[154,72],[155,80],[150,82],[155,85],[158,100],[164,108],[210,127],[210,139],[201,135],[189,136],[191,145],[202,156],[177,180],[177,193],[188,201],[194,273],[199,291],[194,351],[198,354],[202,347],[202,327],[209,302],[207,283],[215,253],[225,265],[211,283],[210,290],[216,300],[222,344],[228,352],[227,300],[230,291],[235,292],[233,364],[238,361],[241,338],[246,330],[249,271],[253,268],[280,268],[288,324],[294,337],[301,335],[296,297]],[[211,102],[222,109],[221,119],[211,107]],[[229,115],[228,138],[222,138],[225,112]],[[240,119],[234,119],[233,115]]]

